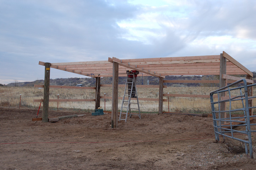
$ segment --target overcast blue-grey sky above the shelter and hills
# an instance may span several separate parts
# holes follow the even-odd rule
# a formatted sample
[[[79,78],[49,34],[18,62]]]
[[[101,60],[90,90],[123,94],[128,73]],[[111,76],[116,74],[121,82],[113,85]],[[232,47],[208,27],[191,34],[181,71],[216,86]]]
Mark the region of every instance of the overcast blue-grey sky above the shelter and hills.
[[[255,71],[255,16],[255,0],[0,0],[0,83],[44,79],[39,61],[222,51]]]

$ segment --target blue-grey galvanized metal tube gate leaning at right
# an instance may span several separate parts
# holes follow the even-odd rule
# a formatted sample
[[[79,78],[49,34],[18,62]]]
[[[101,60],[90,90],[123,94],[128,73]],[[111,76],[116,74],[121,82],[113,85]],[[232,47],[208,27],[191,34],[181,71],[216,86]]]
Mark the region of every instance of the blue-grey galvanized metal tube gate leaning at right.
[[[243,85],[237,87],[241,83]],[[253,158],[251,132],[256,132],[256,130],[251,130],[251,126],[256,124],[250,124],[250,120],[256,117],[250,115],[249,112],[250,110],[253,112],[256,108],[253,104],[249,107],[249,100],[253,103],[252,99],[256,98],[254,95],[248,96],[248,87],[252,86],[256,86],[256,84],[247,85],[246,80],[241,79],[210,93],[216,141],[219,141],[219,135],[222,135],[244,142],[246,154],[248,153],[247,145],[249,145],[250,158]],[[227,97],[221,97],[221,93],[227,93]],[[225,104],[223,111],[221,104]],[[248,136],[247,140],[241,136],[243,134]]]

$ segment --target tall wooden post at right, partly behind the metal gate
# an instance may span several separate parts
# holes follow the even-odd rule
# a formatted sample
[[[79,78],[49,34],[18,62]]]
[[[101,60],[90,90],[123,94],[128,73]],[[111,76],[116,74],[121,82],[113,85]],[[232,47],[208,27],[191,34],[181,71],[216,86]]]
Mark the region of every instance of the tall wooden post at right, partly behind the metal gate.
[[[227,70],[227,59],[223,57],[223,54],[221,53],[220,55],[220,63],[219,63],[219,88],[225,87],[226,86],[226,81],[227,79],[222,78],[222,74],[226,74]],[[226,96],[226,93],[223,92],[219,95],[219,100],[221,100],[221,97]],[[226,109],[226,103],[220,103],[220,111],[225,111]],[[226,118],[226,112],[223,112],[220,114],[220,118]],[[224,121],[222,122],[224,124]]]

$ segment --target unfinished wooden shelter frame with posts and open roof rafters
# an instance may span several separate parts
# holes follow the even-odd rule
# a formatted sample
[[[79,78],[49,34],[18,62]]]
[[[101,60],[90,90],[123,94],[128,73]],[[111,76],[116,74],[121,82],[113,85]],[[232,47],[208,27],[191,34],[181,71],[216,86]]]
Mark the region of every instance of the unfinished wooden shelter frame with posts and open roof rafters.
[[[118,77],[127,76],[126,70],[138,70],[140,73],[144,73],[143,76],[155,76],[159,78],[158,114],[163,113],[163,96],[173,95],[163,94],[163,83],[216,83],[216,80],[178,80],[179,82],[174,82],[175,80],[163,80],[166,75],[219,75],[220,88],[227,85],[228,80],[240,79],[231,75],[246,75],[248,84],[253,83],[252,72],[250,72],[247,68],[245,68],[242,64],[240,64],[224,51],[220,55],[208,56],[161,57],[125,60],[113,57],[108,58],[108,61],[65,63],[45,63],[39,61],[39,65],[45,66],[43,100],[44,122],[47,122],[48,120],[50,68],[55,68],[96,78],[96,87],[94,87],[96,90],[95,108],[100,106],[100,98],[102,98],[100,96],[100,77],[112,77],[112,128],[117,127],[118,121]],[[141,74],[138,76],[141,76]],[[250,94],[252,95],[252,89],[250,89]],[[225,97],[225,95],[226,94],[221,94],[219,97]],[[202,97],[202,95],[198,96]],[[41,100],[38,100],[38,102],[39,101]],[[221,109],[224,111],[225,106],[221,106]],[[223,113],[223,117],[225,117],[225,115],[226,113]]]

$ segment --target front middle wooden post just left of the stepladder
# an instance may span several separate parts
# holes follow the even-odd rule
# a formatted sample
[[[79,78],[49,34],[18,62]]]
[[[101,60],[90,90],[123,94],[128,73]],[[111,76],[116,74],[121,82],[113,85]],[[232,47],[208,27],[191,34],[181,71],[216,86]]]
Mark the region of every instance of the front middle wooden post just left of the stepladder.
[[[111,128],[117,128],[118,121],[118,63],[113,62]]]

